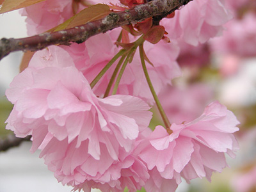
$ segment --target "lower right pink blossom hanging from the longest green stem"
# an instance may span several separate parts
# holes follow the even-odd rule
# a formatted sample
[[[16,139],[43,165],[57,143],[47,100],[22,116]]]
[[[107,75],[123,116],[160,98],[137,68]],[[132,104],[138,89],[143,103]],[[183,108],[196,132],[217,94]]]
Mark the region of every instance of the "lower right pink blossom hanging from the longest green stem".
[[[172,124],[172,134],[157,126],[139,156],[148,170],[156,168],[163,179],[175,179],[177,184],[180,177],[187,182],[196,177],[211,180],[212,172],[221,172],[227,166],[225,153],[235,156],[238,145],[232,133],[238,130],[237,124],[231,111],[212,102],[192,122]]]

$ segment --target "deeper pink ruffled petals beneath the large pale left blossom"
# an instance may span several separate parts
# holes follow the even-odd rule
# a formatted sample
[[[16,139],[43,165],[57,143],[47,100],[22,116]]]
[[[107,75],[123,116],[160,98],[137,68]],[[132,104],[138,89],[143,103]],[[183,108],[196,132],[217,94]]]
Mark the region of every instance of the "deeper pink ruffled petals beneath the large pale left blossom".
[[[76,147],[76,141],[51,140],[40,156],[45,157],[49,170],[63,185],[73,186],[74,190],[83,189],[90,192],[98,188],[102,192],[136,191],[145,185],[149,174],[147,166],[133,156],[120,149],[118,160],[109,157],[108,150],[103,146],[99,160],[88,154],[88,142],[83,141],[81,147]]]

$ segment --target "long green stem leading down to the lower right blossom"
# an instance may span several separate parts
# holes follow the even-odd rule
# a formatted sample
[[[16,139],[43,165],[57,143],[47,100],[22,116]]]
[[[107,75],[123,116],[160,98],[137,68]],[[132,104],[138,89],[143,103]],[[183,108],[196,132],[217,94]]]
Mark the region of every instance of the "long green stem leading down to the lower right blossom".
[[[164,113],[164,109],[161,106],[161,103],[159,102],[157,94],[154,90],[154,87],[153,87],[151,81],[150,81],[150,77],[148,76],[148,71],[147,71],[147,67],[146,67],[145,60],[144,60],[144,55],[143,55],[143,44],[140,45],[140,60],[141,60],[141,65],[142,65],[142,68],[143,68],[143,72],[145,74],[148,86],[150,88],[150,92],[152,93],[152,95],[154,97],[154,100],[156,102],[156,106],[159,110],[159,113],[160,113],[161,117],[163,118],[164,125],[165,125],[166,129],[168,130],[168,133],[171,134],[172,133],[171,132],[172,130],[170,130],[171,124],[170,124],[166,114]]]

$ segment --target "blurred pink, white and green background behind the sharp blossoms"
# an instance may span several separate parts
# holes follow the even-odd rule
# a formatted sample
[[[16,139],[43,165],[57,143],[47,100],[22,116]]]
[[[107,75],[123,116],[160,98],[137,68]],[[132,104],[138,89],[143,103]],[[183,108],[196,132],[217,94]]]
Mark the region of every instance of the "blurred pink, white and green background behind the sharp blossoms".
[[[163,90],[161,102],[172,122],[193,120],[212,100],[220,100],[241,122],[236,137],[240,150],[236,159],[227,157],[230,168],[214,173],[212,182],[195,179],[182,182],[179,192],[255,192],[256,191],[256,8],[255,0],[230,1],[234,20],[228,22],[223,37],[198,47],[182,45],[179,64],[183,76]],[[229,2],[229,1],[228,1]],[[239,4],[239,3],[240,4]],[[0,38],[26,35],[25,18],[19,11],[0,15]],[[4,96],[13,77],[19,73],[22,52],[0,61],[0,137],[5,138],[5,120],[12,104]],[[166,97],[168,95],[168,97]],[[154,116],[152,125],[159,124]],[[0,153],[0,192],[71,191],[47,170],[39,152],[30,154],[31,143],[24,142]],[[97,191],[97,190],[95,190]]]

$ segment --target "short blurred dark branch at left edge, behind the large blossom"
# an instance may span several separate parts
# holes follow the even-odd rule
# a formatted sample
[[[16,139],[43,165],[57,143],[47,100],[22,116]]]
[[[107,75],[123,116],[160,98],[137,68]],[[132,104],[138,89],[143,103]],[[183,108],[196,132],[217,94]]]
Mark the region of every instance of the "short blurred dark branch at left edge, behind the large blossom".
[[[9,134],[6,138],[0,139],[0,152],[6,151],[9,148],[17,147],[22,143],[22,141],[30,141],[31,136],[26,136],[26,138],[17,138],[14,134]]]

